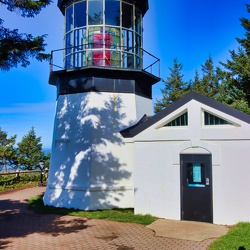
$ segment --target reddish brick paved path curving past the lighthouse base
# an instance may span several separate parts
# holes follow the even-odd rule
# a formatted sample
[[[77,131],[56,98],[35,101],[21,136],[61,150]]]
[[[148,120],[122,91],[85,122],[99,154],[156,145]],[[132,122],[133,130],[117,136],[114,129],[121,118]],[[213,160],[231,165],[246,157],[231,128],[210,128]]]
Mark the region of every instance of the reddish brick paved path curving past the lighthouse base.
[[[215,240],[191,241],[155,236],[133,223],[37,214],[27,201],[44,187],[0,192],[0,249],[15,250],[203,250]]]

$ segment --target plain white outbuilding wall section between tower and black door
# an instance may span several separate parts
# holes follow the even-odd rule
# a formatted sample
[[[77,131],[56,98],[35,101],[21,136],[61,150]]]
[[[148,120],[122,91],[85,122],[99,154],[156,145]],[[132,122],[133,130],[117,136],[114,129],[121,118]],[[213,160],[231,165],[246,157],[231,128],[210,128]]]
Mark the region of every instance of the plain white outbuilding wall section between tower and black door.
[[[171,143],[135,143],[135,213],[180,219],[180,168]],[[140,157],[139,157],[140,152]]]

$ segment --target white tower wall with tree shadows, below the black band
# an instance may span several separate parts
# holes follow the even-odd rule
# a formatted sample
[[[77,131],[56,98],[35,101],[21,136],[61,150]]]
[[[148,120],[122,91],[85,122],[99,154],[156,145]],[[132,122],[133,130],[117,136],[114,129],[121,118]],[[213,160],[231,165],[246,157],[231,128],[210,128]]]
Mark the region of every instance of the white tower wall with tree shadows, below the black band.
[[[151,99],[135,94],[59,95],[45,205],[134,207],[133,146],[119,132],[145,113]]]

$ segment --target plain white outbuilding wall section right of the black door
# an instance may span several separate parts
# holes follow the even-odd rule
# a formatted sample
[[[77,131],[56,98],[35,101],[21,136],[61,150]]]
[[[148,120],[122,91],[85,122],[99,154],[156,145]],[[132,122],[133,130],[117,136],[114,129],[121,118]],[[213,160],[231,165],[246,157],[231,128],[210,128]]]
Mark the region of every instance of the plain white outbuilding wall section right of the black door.
[[[214,222],[250,221],[250,141],[220,141],[221,165],[213,167]]]

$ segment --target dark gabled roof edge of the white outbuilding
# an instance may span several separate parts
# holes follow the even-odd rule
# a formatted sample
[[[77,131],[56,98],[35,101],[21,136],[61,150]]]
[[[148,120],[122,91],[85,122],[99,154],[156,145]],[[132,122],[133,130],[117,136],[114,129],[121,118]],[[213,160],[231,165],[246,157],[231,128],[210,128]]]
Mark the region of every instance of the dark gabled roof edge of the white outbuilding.
[[[187,95],[185,95],[183,98],[179,99],[178,101],[174,102],[170,106],[166,107],[164,110],[159,112],[158,114],[152,116],[151,118],[147,117],[146,115],[143,116],[143,118],[135,125],[126,128],[122,130],[120,133],[124,138],[131,138],[136,136],[137,134],[141,133],[142,131],[146,130],[156,122],[163,119],[165,116],[171,114],[181,106],[185,105],[191,100],[196,100],[204,105],[207,105],[211,108],[217,109],[218,111],[221,111],[227,115],[233,116],[241,121],[244,121],[246,123],[250,124],[250,115],[245,114],[239,110],[236,110],[234,108],[231,108],[223,103],[220,103],[218,101],[215,101],[209,97],[203,96],[201,94],[198,94],[196,92],[190,92]],[[145,119],[147,118],[147,119]]]

